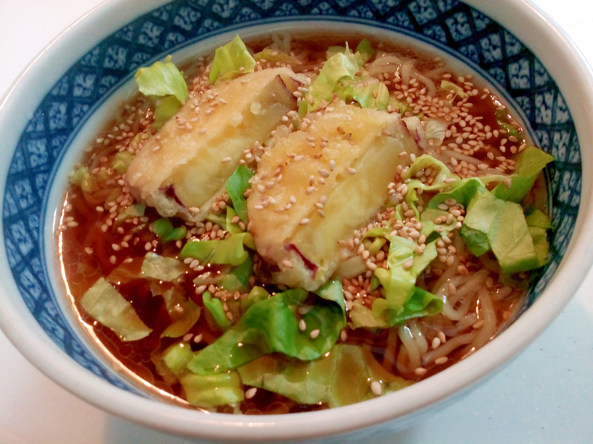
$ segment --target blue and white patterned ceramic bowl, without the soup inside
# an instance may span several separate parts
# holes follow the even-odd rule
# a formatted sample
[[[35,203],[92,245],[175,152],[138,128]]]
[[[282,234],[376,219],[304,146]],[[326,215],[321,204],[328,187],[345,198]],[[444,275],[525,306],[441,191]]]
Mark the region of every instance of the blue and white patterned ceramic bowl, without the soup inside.
[[[237,32],[248,37],[321,27],[414,42],[465,63],[498,89],[530,124],[533,140],[556,158],[547,171],[557,227],[551,260],[511,327],[465,361],[395,394],[266,417],[206,415],[154,400],[101,358],[69,309],[53,236],[66,172],[114,105],[133,91],[139,66],[167,54],[183,60]],[[586,198],[593,191],[591,85],[568,39],[522,0],[111,0],[50,44],[0,102],[0,153],[9,159],[0,166],[2,330],[63,387],[160,429],[233,442],[388,436],[517,355],[584,279],[593,245]]]

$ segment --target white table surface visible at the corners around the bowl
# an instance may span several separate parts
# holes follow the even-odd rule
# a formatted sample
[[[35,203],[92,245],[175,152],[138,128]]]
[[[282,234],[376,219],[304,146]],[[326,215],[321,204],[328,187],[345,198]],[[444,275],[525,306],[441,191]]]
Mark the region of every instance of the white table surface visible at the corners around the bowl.
[[[496,0],[489,0],[496,1]],[[0,0],[0,96],[59,31],[100,0]],[[593,2],[536,0],[593,64]],[[592,252],[593,254],[593,252]],[[398,444],[593,442],[593,272],[519,358]],[[1,310],[1,307],[0,307]],[[1,444],[189,444],[111,416],[37,371],[0,332]]]

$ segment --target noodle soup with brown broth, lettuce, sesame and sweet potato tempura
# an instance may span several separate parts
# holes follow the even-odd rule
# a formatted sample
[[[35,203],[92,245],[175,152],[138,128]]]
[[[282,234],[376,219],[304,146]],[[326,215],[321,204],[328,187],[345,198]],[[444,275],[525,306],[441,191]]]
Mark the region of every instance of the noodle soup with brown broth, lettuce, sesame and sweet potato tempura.
[[[71,174],[73,307],[169,401],[277,414],[400,390],[495,337],[546,262],[553,158],[495,93],[415,49],[323,40],[141,68]]]

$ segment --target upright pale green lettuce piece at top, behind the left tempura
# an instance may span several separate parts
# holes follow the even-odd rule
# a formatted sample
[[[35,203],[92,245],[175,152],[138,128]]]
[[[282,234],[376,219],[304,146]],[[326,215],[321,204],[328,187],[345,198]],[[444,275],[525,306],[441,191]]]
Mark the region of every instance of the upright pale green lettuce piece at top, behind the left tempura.
[[[239,73],[253,72],[255,66],[256,61],[237,34],[231,42],[219,47],[214,53],[208,82],[214,85],[219,78],[232,79]]]

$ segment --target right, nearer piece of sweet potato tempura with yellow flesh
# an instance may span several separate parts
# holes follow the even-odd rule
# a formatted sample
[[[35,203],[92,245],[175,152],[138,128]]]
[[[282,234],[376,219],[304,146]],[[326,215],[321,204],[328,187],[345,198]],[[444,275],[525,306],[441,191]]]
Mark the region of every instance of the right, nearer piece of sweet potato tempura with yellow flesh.
[[[327,138],[323,149],[321,137]],[[248,216],[257,251],[280,269],[273,274],[278,283],[314,290],[333,274],[341,257],[338,240],[352,236],[385,204],[397,165],[410,165],[410,156],[399,156],[404,151],[417,155],[417,146],[397,115],[339,104],[262,157],[256,178],[265,178],[254,183]],[[329,172],[324,184],[317,181],[320,170]],[[275,173],[280,181],[262,192],[257,185],[270,186]],[[282,211],[291,196],[297,202]],[[322,217],[315,204],[325,199]]]

